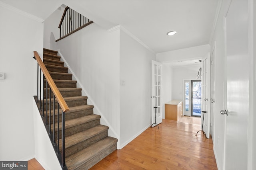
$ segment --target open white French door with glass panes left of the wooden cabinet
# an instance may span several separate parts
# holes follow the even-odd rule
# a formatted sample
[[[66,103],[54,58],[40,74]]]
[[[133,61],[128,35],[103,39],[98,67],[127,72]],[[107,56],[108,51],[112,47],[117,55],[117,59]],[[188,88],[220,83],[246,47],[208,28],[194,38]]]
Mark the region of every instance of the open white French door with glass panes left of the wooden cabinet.
[[[162,123],[161,86],[162,64],[152,61],[152,124]],[[156,109],[154,107],[157,107]],[[156,126],[153,124],[152,127]]]

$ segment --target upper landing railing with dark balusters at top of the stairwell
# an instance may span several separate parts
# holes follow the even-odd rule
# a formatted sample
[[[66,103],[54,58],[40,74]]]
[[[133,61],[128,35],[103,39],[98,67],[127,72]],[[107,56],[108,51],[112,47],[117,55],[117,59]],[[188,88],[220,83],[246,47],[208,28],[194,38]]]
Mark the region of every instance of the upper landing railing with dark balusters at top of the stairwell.
[[[63,12],[58,27],[60,29],[60,38],[56,41],[67,37],[68,35],[86,27],[87,25],[90,25],[91,23],[93,23],[93,21],[67,6]]]

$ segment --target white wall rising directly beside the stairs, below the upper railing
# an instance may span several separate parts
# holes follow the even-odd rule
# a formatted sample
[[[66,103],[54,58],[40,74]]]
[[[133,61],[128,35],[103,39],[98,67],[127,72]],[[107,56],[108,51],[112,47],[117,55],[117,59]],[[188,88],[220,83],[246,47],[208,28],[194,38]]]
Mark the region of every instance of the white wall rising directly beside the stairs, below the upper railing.
[[[51,25],[48,25],[51,26]],[[110,127],[109,135],[120,134],[120,33],[108,32],[92,23],[57,42],[69,71],[78,80],[94,113]]]

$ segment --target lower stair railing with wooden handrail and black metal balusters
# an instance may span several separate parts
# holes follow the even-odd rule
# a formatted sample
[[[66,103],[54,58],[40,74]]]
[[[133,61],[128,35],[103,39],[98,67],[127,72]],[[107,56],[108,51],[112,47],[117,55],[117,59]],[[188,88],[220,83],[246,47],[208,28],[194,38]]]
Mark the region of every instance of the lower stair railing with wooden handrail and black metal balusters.
[[[63,170],[67,170],[65,164],[65,112],[69,110],[68,105],[66,104],[64,98],[60,94],[56,84],[52,80],[50,73],[48,72],[46,66],[42,62],[40,56],[36,51],[34,51],[34,59],[37,61],[37,96],[35,96],[35,100],[37,102],[37,106],[39,111],[42,114],[42,120],[45,124],[46,131],[50,137],[58,160],[62,166]],[[40,69],[39,69],[40,67]],[[39,71],[40,70],[40,71]],[[43,79],[42,81],[42,73]],[[38,87],[39,86],[39,87]],[[43,88],[42,88],[43,87]],[[49,96],[48,96],[48,87],[49,87]],[[44,88],[46,90],[44,94]],[[43,89],[42,98],[41,98],[41,89]],[[45,95],[45,96],[44,96]],[[51,106],[51,100],[53,97],[53,106]],[[49,103],[48,103],[49,98]],[[57,100],[57,142],[55,141],[56,134],[55,134],[55,100]],[[45,101],[45,104],[44,104]],[[49,107],[49,116],[48,116],[48,108]],[[51,120],[51,110],[53,108],[53,120]],[[60,108],[62,109],[62,127],[61,127],[61,139],[62,139],[62,151],[60,152]],[[44,114],[45,113],[45,114]],[[48,119],[47,119],[48,116]],[[51,122],[53,122],[53,127],[51,128]]]

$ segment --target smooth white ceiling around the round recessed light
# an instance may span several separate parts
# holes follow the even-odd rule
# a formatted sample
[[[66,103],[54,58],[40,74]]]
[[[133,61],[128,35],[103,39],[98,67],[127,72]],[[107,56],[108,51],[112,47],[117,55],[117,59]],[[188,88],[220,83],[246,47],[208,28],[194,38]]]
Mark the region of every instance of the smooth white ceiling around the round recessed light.
[[[65,4],[98,25],[122,25],[155,53],[209,44],[218,0],[0,0],[45,20]],[[177,31],[167,36],[168,31]]]

